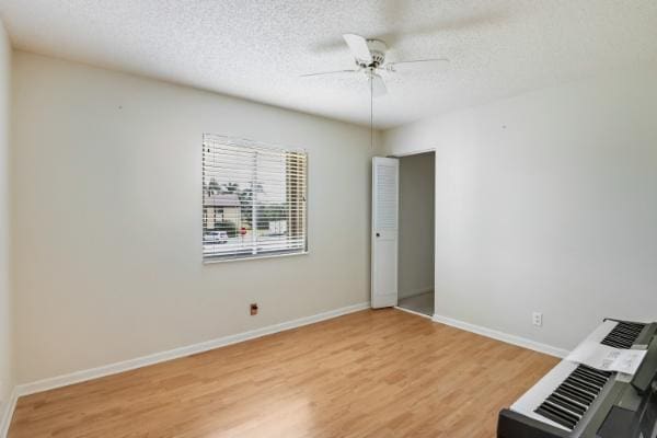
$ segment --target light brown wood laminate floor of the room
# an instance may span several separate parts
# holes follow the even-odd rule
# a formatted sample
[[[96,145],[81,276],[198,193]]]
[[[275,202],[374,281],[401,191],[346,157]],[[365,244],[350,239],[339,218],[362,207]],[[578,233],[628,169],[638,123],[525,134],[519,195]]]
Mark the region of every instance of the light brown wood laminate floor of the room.
[[[19,403],[10,438],[492,438],[557,359],[362,311]]]

